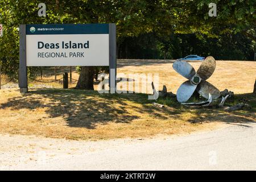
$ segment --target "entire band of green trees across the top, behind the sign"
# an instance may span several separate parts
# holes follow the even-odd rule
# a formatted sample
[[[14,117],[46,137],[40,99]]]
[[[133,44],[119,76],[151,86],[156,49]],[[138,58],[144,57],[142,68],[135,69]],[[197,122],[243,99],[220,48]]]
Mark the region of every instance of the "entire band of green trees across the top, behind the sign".
[[[133,55],[133,58],[173,59],[184,56],[189,52],[188,49],[190,52],[196,52],[196,47],[200,47],[197,48],[198,52],[203,51],[204,55],[208,55],[213,53],[208,47],[217,44],[223,51],[228,52],[226,55],[243,55],[239,59],[246,59],[245,55],[251,54],[247,50],[248,45],[254,50],[256,47],[256,6],[255,1],[251,0],[45,0],[46,17],[38,16],[40,2],[42,1],[0,1],[0,23],[4,26],[3,37],[0,38],[0,64],[3,72],[9,76],[17,76],[18,71],[19,24],[116,23],[120,57]],[[217,4],[217,17],[208,16],[210,2]],[[254,43],[241,35],[234,36],[239,32],[254,40]],[[194,35],[183,37],[179,34]],[[230,35],[231,41],[228,40]],[[135,39],[139,42],[130,42]],[[225,44],[234,43],[233,39],[239,42],[235,51],[232,51],[233,46]],[[199,44],[195,44],[194,40]],[[217,43],[214,40],[217,40]],[[209,43],[210,41],[213,43]],[[203,49],[199,45],[206,48]],[[241,49],[238,49],[239,46]],[[137,51],[138,48],[141,52]],[[218,53],[216,55],[221,57]],[[31,68],[30,74],[33,75],[36,69]]]

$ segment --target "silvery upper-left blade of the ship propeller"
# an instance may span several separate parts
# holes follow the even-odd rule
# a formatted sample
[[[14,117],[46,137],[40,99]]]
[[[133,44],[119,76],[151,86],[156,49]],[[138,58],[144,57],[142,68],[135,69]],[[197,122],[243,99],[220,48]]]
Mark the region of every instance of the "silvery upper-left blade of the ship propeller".
[[[191,80],[191,78],[196,74],[195,69],[186,61],[175,61],[174,64],[172,64],[172,68],[188,80]]]

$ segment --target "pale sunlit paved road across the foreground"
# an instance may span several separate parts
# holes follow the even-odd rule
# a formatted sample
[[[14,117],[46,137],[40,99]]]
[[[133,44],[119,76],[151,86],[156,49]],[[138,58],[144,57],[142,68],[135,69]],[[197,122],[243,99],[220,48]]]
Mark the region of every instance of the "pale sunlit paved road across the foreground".
[[[15,136],[10,138],[15,139]],[[8,138],[5,142],[7,140]],[[55,148],[48,149],[46,145],[53,143],[55,139],[45,140],[47,141],[40,139],[36,142],[35,138],[31,138],[32,143],[36,142],[34,149],[40,146],[46,151],[43,160],[19,158],[17,162],[18,158],[13,155],[11,158],[13,163],[8,165],[2,154],[2,162],[5,163],[5,166],[2,163],[2,169],[256,169],[256,123],[237,123],[207,133],[166,139],[121,139],[105,142],[62,141],[51,145]],[[65,147],[67,151],[63,152],[61,147]],[[70,153],[72,147],[77,147],[77,150]],[[38,152],[38,150],[35,151]]]

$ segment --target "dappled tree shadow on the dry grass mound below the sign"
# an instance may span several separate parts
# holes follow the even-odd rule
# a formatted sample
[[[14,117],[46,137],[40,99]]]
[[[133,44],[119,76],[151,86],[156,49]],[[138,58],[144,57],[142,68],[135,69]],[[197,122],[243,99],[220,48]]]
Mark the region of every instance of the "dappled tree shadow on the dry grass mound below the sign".
[[[42,89],[10,98],[0,108],[44,108],[49,118],[63,117],[68,126],[87,129],[94,129],[97,124],[105,125],[108,122],[129,123],[141,118],[138,113],[154,115],[159,119],[168,119],[168,115],[175,114],[171,110],[156,108],[151,102],[147,100],[146,94],[100,94],[90,90]]]

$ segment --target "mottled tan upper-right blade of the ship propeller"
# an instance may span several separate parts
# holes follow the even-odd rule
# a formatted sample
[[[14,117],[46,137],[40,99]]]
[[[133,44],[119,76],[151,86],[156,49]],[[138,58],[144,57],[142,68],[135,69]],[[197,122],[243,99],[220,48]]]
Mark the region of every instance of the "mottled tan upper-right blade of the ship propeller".
[[[196,73],[204,80],[207,80],[210,76],[212,76],[215,68],[216,68],[215,59],[212,56],[208,56],[200,65]]]

